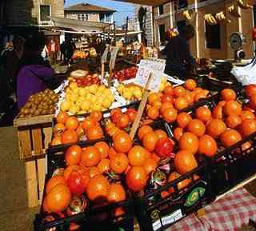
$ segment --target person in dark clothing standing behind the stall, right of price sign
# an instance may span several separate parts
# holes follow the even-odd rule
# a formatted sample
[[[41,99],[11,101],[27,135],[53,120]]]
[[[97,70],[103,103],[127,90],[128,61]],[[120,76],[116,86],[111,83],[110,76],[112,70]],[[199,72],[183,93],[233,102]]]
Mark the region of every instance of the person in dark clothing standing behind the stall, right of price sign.
[[[187,25],[167,43],[163,50],[163,54],[166,54],[166,74],[186,79],[193,73],[196,62],[191,55],[189,41],[194,34],[194,26]]]

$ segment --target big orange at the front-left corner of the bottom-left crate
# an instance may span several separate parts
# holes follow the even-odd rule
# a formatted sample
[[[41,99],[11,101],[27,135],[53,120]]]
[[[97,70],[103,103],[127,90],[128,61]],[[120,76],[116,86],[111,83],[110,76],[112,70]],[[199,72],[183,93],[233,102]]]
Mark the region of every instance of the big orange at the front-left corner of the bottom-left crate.
[[[64,211],[71,201],[71,192],[66,185],[56,185],[50,192],[46,195],[46,208],[50,212],[60,213]]]

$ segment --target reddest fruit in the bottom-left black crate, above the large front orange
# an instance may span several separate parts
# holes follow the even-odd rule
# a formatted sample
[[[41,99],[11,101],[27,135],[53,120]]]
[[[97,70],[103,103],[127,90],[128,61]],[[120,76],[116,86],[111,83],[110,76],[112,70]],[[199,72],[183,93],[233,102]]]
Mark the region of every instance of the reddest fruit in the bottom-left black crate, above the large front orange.
[[[82,174],[78,171],[70,173],[70,177],[67,180],[67,185],[70,188],[71,193],[81,195],[86,191],[85,186],[82,183]]]

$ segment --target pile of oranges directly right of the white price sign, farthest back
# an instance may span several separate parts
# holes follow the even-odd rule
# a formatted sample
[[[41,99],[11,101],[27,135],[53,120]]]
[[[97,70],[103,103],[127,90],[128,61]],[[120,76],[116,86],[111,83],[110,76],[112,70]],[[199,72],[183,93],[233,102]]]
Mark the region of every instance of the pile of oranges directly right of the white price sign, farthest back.
[[[178,110],[192,106],[208,94],[209,91],[198,87],[193,79],[187,79],[184,86],[166,86],[163,92],[150,94],[146,116],[152,120],[162,117],[167,122],[173,122],[177,118]]]

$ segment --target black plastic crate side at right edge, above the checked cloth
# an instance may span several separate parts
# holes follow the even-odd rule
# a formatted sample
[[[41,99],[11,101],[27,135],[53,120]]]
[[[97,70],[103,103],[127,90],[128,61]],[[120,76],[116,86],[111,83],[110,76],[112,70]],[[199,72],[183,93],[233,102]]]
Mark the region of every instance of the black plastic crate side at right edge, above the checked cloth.
[[[250,147],[244,149],[244,144]],[[212,159],[212,185],[220,195],[256,173],[256,133],[224,149]]]

